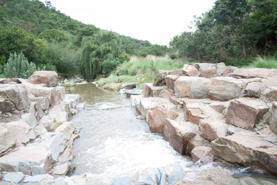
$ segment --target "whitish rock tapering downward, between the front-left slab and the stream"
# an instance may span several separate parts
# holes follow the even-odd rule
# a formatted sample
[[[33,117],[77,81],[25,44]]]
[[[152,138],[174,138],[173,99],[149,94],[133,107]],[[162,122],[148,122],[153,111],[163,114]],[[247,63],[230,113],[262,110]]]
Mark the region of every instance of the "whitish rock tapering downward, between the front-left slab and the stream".
[[[60,132],[46,132],[37,142],[48,148],[51,152],[53,162],[57,161],[66,147],[64,138]]]

